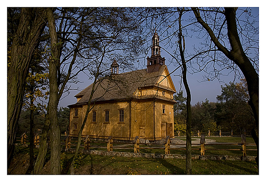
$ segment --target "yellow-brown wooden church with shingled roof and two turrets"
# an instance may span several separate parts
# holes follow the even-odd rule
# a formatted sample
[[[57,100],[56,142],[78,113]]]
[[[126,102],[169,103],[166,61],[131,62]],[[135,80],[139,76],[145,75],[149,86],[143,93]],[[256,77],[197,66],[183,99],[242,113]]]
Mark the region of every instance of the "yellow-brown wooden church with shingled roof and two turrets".
[[[174,136],[173,94],[176,92],[165,58],[161,57],[159,36],[152,37],[147,68],[119,73],[116,61],[110,79],[96,85],[82,136],[134,140],[136,136],[151,141]],[[70,136],[78,135],[93,84],[79,92],[70,105]]]

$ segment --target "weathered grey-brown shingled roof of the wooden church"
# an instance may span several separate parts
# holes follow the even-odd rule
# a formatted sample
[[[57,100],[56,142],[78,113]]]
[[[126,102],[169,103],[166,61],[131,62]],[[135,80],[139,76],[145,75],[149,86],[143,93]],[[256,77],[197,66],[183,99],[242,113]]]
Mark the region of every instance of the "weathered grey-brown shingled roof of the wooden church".
[[[97,89],[93,94],[92,101],[136,98],[134,93],[137,91],[137,89],[143,87],[155,86],[175,93],[175,90],[172,88],[157,84],[165,68],[166,66],[162,65],[159,71],[151,73],[147,73],[146,69],[141,69],[120,74],[111,74],[109,77],[97,82],[95,87]],[[92,87],[93,84],[75,95],[75,97],[80,98],[75,105],[83,105],[88,102]],[[159,98],[159,96],[157,98]],[[169,100],[167,98],[163,99]]]

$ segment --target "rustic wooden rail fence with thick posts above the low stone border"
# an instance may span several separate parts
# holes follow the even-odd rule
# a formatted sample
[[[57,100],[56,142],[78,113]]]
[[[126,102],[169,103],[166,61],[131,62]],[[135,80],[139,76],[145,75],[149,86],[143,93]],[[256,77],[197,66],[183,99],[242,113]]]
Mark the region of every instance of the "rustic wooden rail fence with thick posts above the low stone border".
[[[139,137],[135,137],[134,141],[116,141],[113,140],[112,136],[105,137],[106,139],[101,139],[101,141],[97,140],[96,138],[90,138],[90,136],[86,136],[83,140],[84,142],[84,149],[90,150],[91,147],[98,147],[98,148],[105,148],[108,152],[113,151],[114,148],[116,149],[134,149],[134,153],[139,153],[140,149],[163,149],[165,154],[170,154],[171,150],[186,150],[186,148],[170,148],[171,140],[170,137],[167,136],[164,140],[162,140],[160,143],[140,143]],[[75,143],[77,140],[75,140],[73,137],[67,136],[64,140],[65,143],[65,149],[71,148],[71,146],[76,146]],[[95,145],[98,143],[98,145]],[[101,144],[101,145],[99,145]],[[114,145],[114,144],[120,144],[120,145]],[[142,145],[141,145],[142,144]],[[186,145],[186,143],[174,143],[173,145]],[[201,155],[205,155],[206,150],[238,150],[242,151],[242,155],[244,157],[247,156],[247,150],[254,150],[257,149],[247,149],[247,145],[256,145],[255,143],[247,143],[246,142],[246,136],[241,136],[241,143],[205,143],[205,135],[201,136],[200,143],[193,144],[193,145],[200,145],[200,148],[191,148],[192,150],[200,150]],[[241,146],[241,148],[209,148],[208,146],[214,146],[214,145],[238,145]]]

